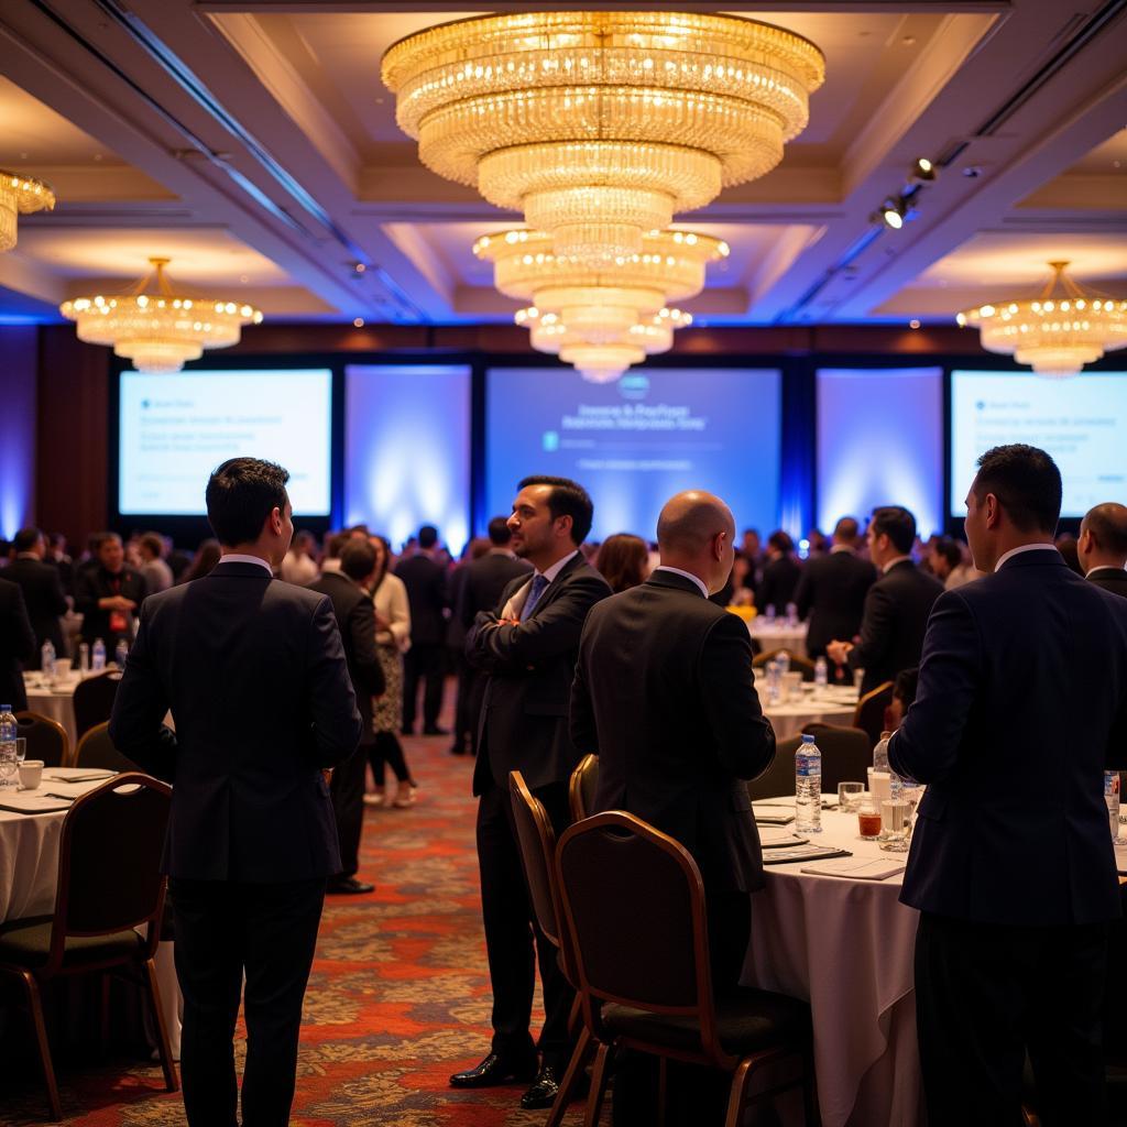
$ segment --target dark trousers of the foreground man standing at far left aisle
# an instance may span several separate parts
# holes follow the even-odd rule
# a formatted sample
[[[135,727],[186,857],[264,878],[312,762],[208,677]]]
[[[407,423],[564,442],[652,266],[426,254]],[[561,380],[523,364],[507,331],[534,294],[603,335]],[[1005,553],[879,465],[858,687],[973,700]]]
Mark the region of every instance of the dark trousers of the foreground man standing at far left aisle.
[[[180,1073],[189,1127],[239,1122],[233,1038],[243,973],[242,1125],[285,1127],[325,880],[257,885],[174,878],[169,887],[184,994]]]

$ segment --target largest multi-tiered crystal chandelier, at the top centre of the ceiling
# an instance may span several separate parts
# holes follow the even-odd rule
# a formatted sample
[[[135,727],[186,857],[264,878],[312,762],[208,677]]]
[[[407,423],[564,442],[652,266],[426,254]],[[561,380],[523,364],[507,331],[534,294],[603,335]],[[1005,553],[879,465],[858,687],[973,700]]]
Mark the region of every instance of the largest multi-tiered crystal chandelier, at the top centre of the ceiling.
[[[423,163],[591,264],[638,254],[675,213],[769,172],[824,79],[798,35],[667,11],[465,19],[383,56]]]

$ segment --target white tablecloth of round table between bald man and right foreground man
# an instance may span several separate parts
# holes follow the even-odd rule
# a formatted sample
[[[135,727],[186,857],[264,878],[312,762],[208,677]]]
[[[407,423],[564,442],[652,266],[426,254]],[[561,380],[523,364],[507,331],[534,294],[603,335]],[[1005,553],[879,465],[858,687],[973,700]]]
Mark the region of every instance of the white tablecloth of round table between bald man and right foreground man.
[[[907,857],[859,840],[855,814],[823,810],[822,825],[811,840],[855,857]],[[823,1127],[921,1127],[917,913],[898,902],[899,877],[849,880],[800,868],[766,867],[766,888],[752,902],[744,980],[809,1000]]]

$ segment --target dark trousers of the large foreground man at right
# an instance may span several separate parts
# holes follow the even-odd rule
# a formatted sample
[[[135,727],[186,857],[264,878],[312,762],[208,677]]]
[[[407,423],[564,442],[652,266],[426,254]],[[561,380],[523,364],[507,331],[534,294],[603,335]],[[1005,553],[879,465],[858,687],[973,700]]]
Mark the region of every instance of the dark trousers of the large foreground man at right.
[[[930,1127],[1020,1124],[1027,1049],[1045,1127],[1106,1121],[1107,946],[1107,924],[1026,928],[921,914],[916,1026]]]

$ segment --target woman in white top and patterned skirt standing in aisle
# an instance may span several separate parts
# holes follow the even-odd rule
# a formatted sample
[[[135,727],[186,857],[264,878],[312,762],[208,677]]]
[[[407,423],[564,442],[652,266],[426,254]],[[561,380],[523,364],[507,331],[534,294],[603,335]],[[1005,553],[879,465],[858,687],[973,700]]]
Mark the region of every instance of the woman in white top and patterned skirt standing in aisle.
[[[387,763],[396,774],[398,787],[396,797],[389,805],[400,809],[415,802],[415,780],[407,770],[403,748],[399,743],[399,730],[403,724],[403,653],[411,644],[411,612],[407,602],[407,588],[402,579],[388,568],[391,552],[387,540],[372,536],[375,549],[375,580],[372,587],[372,603],[375,607],[375,649],[383,669],[387,689],[378,698],[372,709],[372,726],[375,743],[372,745],[370,762],[375,780],[375,793],[365,795],[370,806],[384,802],[383,777]]]

